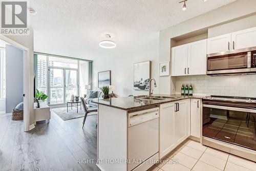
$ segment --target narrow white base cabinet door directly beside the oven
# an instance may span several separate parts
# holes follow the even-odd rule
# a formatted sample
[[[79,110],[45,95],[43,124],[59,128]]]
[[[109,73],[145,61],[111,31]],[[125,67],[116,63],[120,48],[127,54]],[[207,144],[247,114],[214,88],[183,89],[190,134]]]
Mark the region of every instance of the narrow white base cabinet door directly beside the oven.
[[[201,138],[201,100],[191,99],[191,136]]]

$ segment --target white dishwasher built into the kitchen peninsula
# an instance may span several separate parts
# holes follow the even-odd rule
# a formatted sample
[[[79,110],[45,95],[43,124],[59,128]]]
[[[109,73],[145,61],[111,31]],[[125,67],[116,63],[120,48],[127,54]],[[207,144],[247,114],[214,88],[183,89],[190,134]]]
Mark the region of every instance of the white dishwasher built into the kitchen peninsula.
[[[144,171],[159,160],[159,108],[128,114],[128,171]]]

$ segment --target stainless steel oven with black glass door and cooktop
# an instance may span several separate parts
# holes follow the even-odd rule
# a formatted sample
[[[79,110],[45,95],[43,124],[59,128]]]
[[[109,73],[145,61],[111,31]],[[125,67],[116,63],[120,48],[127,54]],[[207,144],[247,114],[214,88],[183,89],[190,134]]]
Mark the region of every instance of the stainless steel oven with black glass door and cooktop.
[[[202,135],[206,145],[213,140],[222,142],[219,144],[228,145],[221,150],[256,161],[255,120],[256,99],[224,96],[203,99]]]

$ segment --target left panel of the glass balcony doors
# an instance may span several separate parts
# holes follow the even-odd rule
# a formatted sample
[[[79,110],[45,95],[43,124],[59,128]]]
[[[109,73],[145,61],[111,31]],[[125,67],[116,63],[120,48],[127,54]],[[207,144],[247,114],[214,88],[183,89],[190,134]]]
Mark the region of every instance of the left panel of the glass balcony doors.
[[[49,104],[64,103],[64,69],[49,68]]]

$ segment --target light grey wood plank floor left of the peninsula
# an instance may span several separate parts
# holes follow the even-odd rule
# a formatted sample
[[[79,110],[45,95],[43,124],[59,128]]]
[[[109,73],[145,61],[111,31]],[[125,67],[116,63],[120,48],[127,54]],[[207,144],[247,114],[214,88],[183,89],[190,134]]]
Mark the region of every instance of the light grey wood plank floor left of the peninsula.
[[[97,115],[63,121],[52,112],[50,123],[30,132],[23,121],[0,114],[0,170],[99,170],[96,160]],[[77,159],[83,162],[77,163]],[[90,163],[91,162],[91,163]]]

